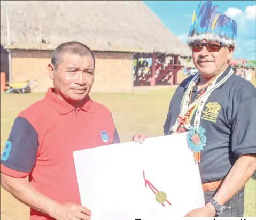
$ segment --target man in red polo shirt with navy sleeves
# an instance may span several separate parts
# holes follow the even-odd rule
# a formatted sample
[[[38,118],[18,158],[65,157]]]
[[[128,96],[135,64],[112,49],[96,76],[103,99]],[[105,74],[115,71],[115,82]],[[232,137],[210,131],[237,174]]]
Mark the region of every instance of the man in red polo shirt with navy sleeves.
[[[88,95],[94,70],[86,45],[59,45],[48,65],[54,88],[14,121],[1,157],[1,185],[30,207],[30,220],[92,215],[81,206],[73,151],[119,143],[111,112]]]

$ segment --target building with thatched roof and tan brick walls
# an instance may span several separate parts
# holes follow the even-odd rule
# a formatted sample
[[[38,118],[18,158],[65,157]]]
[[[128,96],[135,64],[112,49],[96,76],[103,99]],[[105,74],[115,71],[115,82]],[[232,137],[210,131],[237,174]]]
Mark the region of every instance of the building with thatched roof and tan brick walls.
[[[13,82],[37,79],[36,91],[52,86],[51,53],[71,40],[95,53],[93,91],[132,91],[135,54],[191,55],[142,1],[1,1],[1,45],[11,52]]]

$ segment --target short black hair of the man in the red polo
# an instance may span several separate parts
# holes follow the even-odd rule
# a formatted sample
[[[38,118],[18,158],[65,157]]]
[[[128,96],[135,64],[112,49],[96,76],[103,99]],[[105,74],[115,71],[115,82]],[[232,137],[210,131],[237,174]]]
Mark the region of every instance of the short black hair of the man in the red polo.
[[[64,53],[72,53],[80,56],[91,56],[94,60],[94,68],[95,68],[95,57],[90,48],[80,42],[71,41],[60,44],[53,51],[51,56],[51,63],[53,64],[55,69],[58,69],[59,64],[61,63],[61,58]]]

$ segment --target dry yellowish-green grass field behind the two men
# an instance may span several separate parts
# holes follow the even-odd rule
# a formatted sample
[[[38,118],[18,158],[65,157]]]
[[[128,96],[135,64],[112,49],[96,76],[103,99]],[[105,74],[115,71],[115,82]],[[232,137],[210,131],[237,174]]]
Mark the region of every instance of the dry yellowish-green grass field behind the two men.
[[[255,85],[255,77],[253,77]],[[149,137],[161,136],[173,88],[140,93],[91,94],[95,101],[112,112],[122,142],[130,141],[135,132]],[[44,94],[1,94],[1,153],[18,113],[42,99]],[[246,184],[245,217],[256,217],[256,175]],[[29,209],[1,188],[1,219],[28,219]]]

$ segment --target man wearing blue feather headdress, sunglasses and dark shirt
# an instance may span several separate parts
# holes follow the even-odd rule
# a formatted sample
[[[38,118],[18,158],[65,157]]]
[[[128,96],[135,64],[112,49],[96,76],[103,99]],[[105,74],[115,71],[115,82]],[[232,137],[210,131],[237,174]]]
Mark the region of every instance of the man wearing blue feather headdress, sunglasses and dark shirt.
[[[244,186],[256,169],[256,89],[229,66],[236,36],[236,21],[200,2],[187,40],[198,73],[176,89],[164,125],[165,135],[188,132],[203,183],[205,206],[185,217],[244,214]]]

